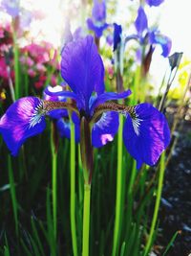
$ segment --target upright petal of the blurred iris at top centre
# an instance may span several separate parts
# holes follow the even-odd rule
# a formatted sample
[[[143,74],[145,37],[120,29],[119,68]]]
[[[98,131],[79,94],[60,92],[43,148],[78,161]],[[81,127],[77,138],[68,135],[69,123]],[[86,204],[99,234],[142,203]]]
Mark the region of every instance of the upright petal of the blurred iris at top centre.
[[[94,0],[92,16],[95,21],[104,21],[106,18],[106,3],[105,0]]]

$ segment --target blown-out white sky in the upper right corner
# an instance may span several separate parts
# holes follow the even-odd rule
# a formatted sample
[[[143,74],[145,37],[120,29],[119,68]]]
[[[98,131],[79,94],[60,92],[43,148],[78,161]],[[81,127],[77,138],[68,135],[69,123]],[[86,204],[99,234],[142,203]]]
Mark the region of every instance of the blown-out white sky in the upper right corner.
[[[171,54],[183,52],[183,58],[191,60],[191,1],[166,0],[159,10],[159,29],[172,39]],[[154,58],[151,72],[160,78],[167,68],[168,61],[162,57]]]

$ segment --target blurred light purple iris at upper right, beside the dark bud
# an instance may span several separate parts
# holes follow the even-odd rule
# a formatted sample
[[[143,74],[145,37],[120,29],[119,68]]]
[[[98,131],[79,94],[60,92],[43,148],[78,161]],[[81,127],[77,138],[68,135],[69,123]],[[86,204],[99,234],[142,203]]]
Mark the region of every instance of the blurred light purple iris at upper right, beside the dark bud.
[[[151,30],[148,28],[147,16],[141,6],[138,8],[138,16],[135,21],[135,27],[138,32],[137,39],[139,40],[140,44],[147,44],[148,42],[151,45],[159,44],[162,49],[161,55],[164,58],[169,55],[172,46],[170,38],[166,35],[161,35],[157,29]],[[133,36],[135,38],[135,35]],[[129,36],[129,38],[130,37],[131,36]]]

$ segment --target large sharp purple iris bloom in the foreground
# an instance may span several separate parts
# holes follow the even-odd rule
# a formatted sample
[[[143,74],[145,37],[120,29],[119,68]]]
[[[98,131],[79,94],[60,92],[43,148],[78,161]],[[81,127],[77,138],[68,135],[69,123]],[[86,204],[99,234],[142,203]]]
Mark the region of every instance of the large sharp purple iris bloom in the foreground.
[[[71,98],[70,102],[26,97],[11,105],[1,118],[0,133],[13,155],[27,138],[43,131],[45,115],[49,115],[53,109],[66,108],[73,111],[76,119],[74,124],[78,122],[80,126],[81,120],[83,122],[85,119],[90,125],[92,145],[96,148],[114,139],[118,129],[118,114],[124,115],[124,144],[137,160],[138,168],[142,163],[156,164],[170,141],[166,119],[150,104],[128,106],[112,102],[128,97],[131,91],[104,91],[104,67],[93,36],[88,35],[65,45],[62,50],[61,75],[72,91],[47,90],[46,93],[53,97]],[[63,130],[68,132],[66,128]]]

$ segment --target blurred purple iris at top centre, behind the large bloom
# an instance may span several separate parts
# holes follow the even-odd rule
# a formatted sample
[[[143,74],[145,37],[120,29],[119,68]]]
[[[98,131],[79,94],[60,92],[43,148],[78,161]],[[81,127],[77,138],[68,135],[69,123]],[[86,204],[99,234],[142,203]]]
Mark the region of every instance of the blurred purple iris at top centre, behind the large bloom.
[[[89,30],[94,31],[96,37],[100,37],[103,31],[107,29],[106,19],[106,3],[105,0],[94,0],[92,17],[87,19]]]

